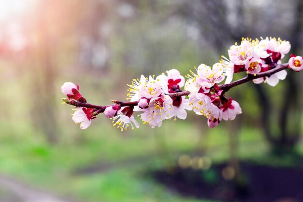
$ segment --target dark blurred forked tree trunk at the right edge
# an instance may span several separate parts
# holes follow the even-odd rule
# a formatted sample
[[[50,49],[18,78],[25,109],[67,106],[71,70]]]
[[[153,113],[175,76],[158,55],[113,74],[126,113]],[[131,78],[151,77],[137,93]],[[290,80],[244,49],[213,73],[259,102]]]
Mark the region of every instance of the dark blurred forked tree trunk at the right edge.
[[[291,31],[290,43],[291,53],[298,54],[301,44],[301,27],[303,24],[303,1],[297,0],[295,6],[295,17],[293,22],[293,31]],[[269,94],[264,90],[263,86],[255,85],[255,89],[259,95],[259,103],[262,108],[262,124],[266,140],[273,147],[273,154],[281,155],[293,153],[296,144],[300,139],[300,123],[301,123],[301,108],[299,101],[299,87],[296,72],[288,71],[288,76],[285,79],[286,88],[284,89],[283,105],[279,113],[279,134],[272,131],[274,123],[271,122],[272,108],[270,105]],[[276,109],[278,110],[278,109]]]

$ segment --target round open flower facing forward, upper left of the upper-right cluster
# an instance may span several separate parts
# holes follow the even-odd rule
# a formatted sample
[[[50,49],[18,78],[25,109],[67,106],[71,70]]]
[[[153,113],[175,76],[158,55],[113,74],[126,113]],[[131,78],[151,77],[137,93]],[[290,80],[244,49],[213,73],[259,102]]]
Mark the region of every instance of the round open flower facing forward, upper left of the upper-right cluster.
[[[243,40],[240,46],[237,46],[237,44],[231,46],[228,55],[232,63],[237,65],[246,64],[254,56],[253,46],[249,41]]]

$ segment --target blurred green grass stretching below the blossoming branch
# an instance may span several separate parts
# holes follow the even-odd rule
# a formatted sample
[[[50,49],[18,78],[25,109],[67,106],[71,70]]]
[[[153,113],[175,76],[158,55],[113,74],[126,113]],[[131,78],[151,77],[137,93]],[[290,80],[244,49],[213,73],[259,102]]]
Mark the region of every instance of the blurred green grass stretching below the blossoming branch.
[[[205,202],[185,199],[142,173],[165,168],[179,155],[195,155],[200,144],[206,146],[204,155],[211,156],[212,161],[228,158],[224,126],[204,128],[201,136],[200,126],[178,120],[165,122],[161,129],[141,124],[134,132],[121,133],[105,118],[98,119],[86,131],[67,122],[57,145],[48,144],[44,134],[26,122],[2,120],[0,127],[5,135],[0,137],[0,171],[33,186],[89,202]],[[262,137],[256,134],[258,130],[240,132],[241,158],[266,151],[266,145],[259,143]],[[79,168],[96,164],[109,167],[93,174],[75,174]]]

